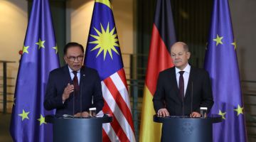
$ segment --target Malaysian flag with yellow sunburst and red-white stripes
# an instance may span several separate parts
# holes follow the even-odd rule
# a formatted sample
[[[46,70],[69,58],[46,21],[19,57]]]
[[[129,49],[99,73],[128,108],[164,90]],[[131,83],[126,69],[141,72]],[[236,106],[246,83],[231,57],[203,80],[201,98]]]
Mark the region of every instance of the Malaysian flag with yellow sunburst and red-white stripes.
[[[135,141],[127,81],[109,0],[95,0],[85,66],[99,73],[105,100],[102,111],[113,116],[112,123],[103,124],[103,141]]]

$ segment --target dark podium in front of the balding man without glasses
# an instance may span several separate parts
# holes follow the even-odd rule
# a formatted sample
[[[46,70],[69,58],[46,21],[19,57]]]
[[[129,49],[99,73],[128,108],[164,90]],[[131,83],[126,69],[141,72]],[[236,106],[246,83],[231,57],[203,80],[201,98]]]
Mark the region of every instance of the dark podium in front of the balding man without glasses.
[[[162,123],[161,141],[211,142],[213,123],[221,122],[221,116],[191,118],[183,116],[153,116],[154,122]]]

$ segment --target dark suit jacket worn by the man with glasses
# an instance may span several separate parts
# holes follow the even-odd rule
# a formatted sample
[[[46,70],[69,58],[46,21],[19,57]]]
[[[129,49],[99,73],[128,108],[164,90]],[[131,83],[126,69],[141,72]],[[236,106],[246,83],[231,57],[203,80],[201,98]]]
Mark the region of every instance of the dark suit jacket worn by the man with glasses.
[[[62,114],[73,115],[73,113],[76,114],[81,110],[88,111],[90,107],[96,107],[97,112],[102,110],[104,105],[102,87],[100,77],[96,70],[89,67],[81,68],[80,93],[74,94],[73,92],[63,104],[62,96],[68,83],[72,84],[68,65],[50,72],[43,103],[46,110],[56,109],[56,115],[58,116]],[[73,102],[75,102],[75,107],[73,107]]]

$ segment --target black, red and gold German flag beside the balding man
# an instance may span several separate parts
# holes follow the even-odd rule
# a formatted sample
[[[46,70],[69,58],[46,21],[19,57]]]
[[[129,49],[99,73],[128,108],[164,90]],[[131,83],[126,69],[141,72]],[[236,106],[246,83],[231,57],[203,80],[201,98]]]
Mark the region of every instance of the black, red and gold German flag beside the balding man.
[[[158,0],[156,2],[146,70],[139,141],[160,141],[161,124],[153,122],[153,116],[156,112],[154,111],[152,99],[154,92],[156,92],[159,72],[174,66],[170,53],[171,45],[174,42],[176,42],[176,35],[171,12],[171,1]]]

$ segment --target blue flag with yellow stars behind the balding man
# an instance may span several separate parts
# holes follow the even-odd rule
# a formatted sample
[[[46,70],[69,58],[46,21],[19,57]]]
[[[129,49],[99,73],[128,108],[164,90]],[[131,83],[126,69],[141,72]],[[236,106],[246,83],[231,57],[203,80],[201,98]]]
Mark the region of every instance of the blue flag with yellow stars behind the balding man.
[[[213,124],[215,142],[247,141],[236,48],[228,0],[215,0],[204,65],[213,88],[210,113],[223,119]]]

